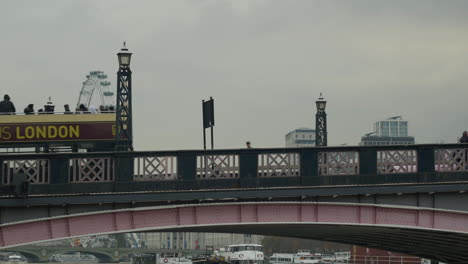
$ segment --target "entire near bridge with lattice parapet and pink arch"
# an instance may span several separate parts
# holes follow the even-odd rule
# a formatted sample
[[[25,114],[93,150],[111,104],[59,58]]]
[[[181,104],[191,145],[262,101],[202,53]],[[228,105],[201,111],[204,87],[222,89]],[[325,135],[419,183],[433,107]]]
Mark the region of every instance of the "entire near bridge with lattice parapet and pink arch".
[[[461,144],[0,155],[0,247],[235,232],[468,260]]]

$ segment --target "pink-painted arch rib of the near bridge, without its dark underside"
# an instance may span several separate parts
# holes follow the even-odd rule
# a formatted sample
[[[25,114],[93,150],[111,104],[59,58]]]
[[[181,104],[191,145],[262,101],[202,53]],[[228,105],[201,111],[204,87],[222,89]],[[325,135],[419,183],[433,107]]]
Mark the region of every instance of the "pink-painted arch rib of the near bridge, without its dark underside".
[[[0,247],[106,233],[213,226],[314,224],[468,233],[468,213],[416,207],[313,202],[218,203],[132,208],[0,226]]]

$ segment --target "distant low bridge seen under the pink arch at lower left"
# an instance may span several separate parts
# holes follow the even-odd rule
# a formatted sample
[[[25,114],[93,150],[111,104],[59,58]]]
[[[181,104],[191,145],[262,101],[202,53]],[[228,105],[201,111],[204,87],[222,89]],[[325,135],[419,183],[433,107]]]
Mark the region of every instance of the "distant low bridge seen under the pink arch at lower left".
[[[8,251],[8,250],[5,250]],[[84,247],[55,247],[55,246],[22,246],[14,249],[15,252],[26,256],[30,262],[50,262],[50,258],[57,254],[73,252],[87,253],[98,258],[99,262],[117,263],[132,254],[155,253],[183,253],[198,256],[206,254],[205,250],[189,249],[150,249],[150,248],[84,248]]]

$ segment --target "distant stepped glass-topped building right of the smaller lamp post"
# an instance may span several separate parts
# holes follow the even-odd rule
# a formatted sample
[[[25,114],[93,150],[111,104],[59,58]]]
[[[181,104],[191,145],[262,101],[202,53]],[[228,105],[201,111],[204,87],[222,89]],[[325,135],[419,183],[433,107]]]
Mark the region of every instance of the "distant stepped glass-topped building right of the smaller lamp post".
[[[414,137],[408,136],[408,121],[401,116],[390,117],[374,123],[374,132],[361,137],[361,146],[410,145]]]

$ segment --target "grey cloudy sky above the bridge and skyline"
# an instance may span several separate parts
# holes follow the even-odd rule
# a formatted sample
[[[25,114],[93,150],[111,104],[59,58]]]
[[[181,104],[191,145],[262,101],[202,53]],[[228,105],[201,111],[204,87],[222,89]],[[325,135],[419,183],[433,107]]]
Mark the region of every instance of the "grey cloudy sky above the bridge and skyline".
[[[329,145],[356,145],[403,115],[418,143],[468,130],[468,1],[2,1],[0,93],[22,110],[76,104],[91,70],[115,86],[134,53],[138,150],[202,147],[215,98],[217,148],[284,146],[328,101]]]

